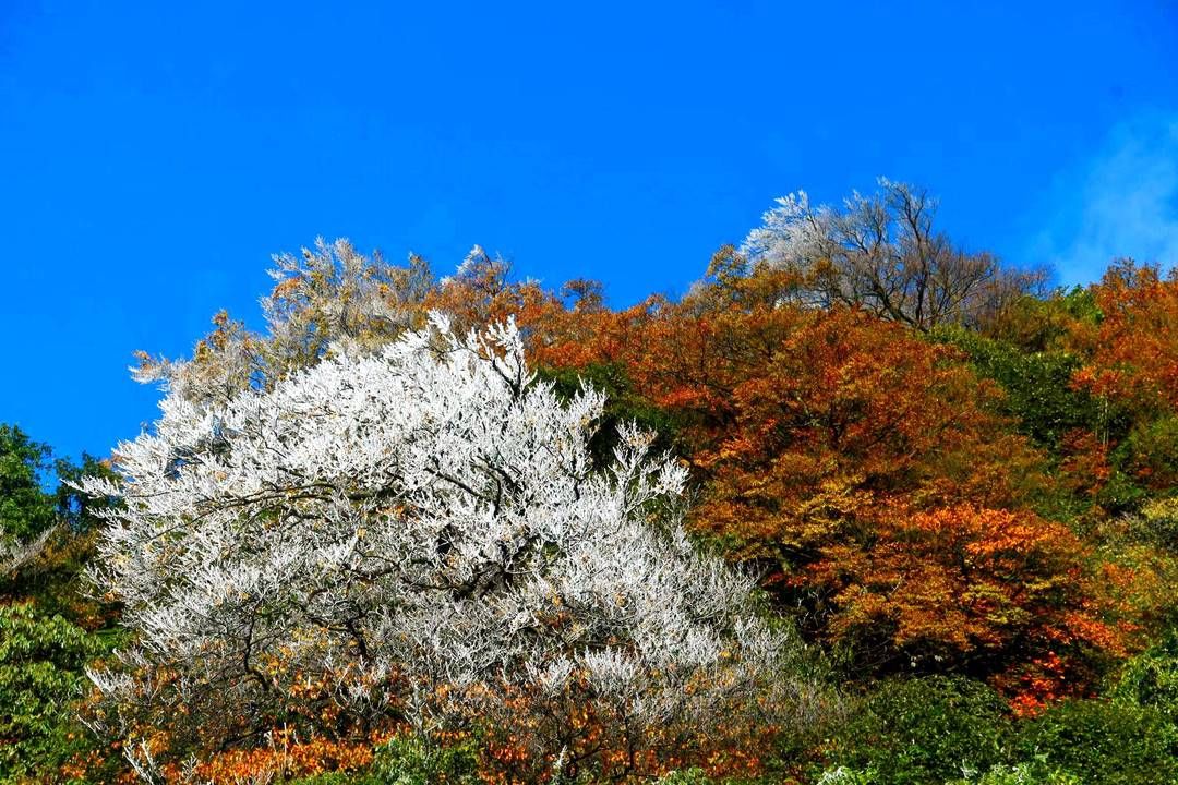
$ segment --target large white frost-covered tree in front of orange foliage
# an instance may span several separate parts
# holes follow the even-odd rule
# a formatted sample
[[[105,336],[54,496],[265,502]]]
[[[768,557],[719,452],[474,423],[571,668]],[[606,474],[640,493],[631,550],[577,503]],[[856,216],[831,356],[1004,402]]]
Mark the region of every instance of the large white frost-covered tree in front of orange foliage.
[[[684,470],[635,430],[591,468],[602,405],[537,381],[514,324],[438,315],[223,405],[170,394],[118,447],[121,484],[85,481],[125,501],[93,579],[135,633],[95,683],[173,714],[326,685],[423,727],[522,694],[576,693],[635,732],[796,709],[798,644],[688,541]]]

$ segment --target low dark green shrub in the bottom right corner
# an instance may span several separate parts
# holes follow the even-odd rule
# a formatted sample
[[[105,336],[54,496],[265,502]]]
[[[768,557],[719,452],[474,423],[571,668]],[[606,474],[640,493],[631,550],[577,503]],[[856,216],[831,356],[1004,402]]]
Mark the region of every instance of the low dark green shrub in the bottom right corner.
[[[1153,706],[1067,700],[1026,721],[1018,746],[1085,785],[1178,783],[1178,732]]]

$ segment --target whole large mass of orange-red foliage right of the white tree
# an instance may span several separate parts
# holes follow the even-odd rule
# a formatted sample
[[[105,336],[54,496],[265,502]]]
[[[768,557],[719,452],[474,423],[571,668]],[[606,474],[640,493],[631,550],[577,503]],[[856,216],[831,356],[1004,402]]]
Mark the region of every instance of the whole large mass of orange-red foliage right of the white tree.
[[[682,300],[582,314],[575,338],[537,351],[624,367],[702,484],[694,528],[763,570],[860,672],[1083,690],[1121,631],[1080,540],[1030,512],[1046,461],[1001,388],[901,325],[792,304],[796,286],[726,250]]]

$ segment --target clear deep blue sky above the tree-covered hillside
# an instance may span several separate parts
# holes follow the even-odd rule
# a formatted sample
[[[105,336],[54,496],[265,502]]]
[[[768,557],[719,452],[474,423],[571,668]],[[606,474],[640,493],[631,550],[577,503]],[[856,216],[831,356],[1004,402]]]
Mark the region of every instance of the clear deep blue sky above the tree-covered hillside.
[[[510,6],[0,0],[0,420],[106,454],[320,234],[627,304],[884,174],[1064,282],[1178,253],[1171,0]]]

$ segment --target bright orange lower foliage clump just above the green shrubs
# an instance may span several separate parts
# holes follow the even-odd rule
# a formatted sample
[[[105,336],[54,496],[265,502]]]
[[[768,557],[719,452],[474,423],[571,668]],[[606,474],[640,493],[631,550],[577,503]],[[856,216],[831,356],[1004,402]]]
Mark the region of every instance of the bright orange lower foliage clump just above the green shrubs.
[[[1031,512],[957,505],[880,515],[869,545],[825,548],[809,570],[836,608],[829,634],[860,641],[876,667],[958,663],[1010,683],[1052,659],[1057,694],[1090,684],[1093,659],[1124,656],[1084,545]],[[1008,686],[1017,686],[1008,684]]]

